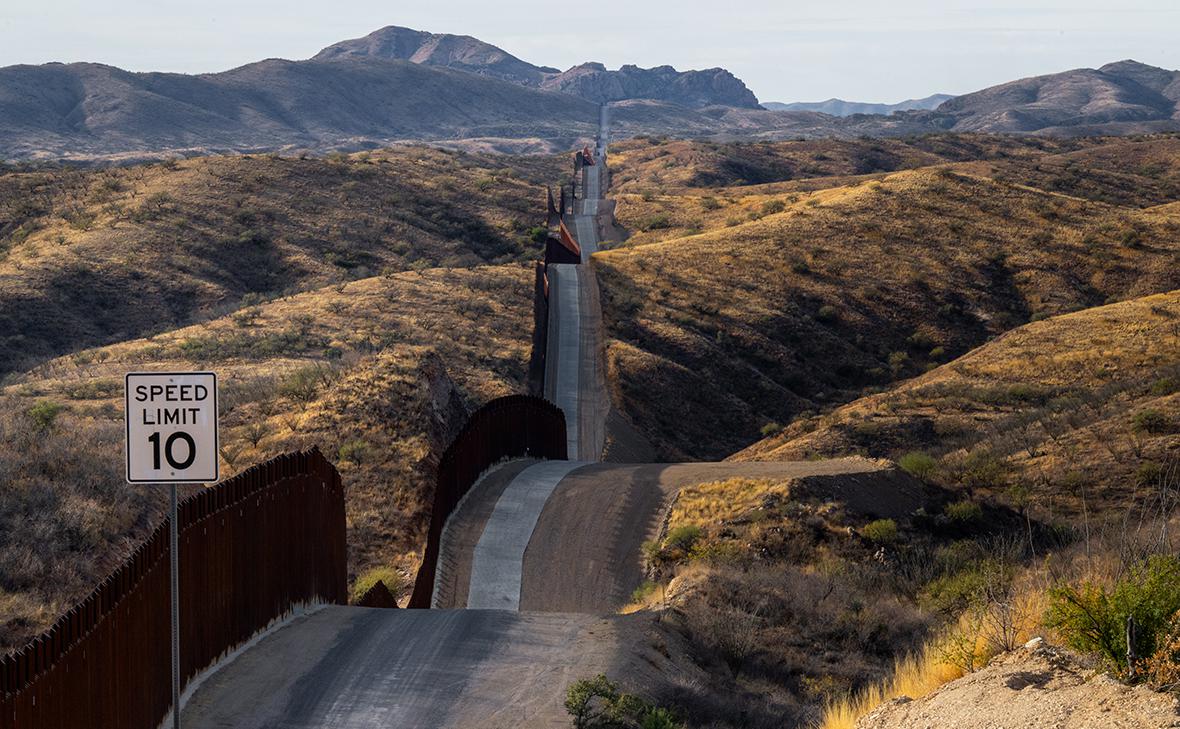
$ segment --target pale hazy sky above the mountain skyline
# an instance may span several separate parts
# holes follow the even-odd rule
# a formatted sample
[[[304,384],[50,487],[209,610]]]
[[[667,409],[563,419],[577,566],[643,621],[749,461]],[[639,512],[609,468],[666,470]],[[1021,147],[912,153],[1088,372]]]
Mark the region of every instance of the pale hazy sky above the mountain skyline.
[[[474,35],[566,68],[723,66],[763,101],[897,101],[1134,58],[1180,67],[1178,0],[0,0],[0,66],[222,71],[386,25]]]

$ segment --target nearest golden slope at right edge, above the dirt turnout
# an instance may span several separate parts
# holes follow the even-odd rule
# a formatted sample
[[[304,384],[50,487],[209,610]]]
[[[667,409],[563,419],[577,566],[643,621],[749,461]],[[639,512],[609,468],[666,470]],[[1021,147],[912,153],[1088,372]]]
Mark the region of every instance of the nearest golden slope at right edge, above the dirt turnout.
[[[942,458],[975,487],[1080,513],[1149,493],[1180,448],[1180,291],[1032,322],[948,364],[802,418],[735,460]],[[1145,415],[1148,414],[1148,415]],[[1156,422],[1158,421],[1158,422]]]

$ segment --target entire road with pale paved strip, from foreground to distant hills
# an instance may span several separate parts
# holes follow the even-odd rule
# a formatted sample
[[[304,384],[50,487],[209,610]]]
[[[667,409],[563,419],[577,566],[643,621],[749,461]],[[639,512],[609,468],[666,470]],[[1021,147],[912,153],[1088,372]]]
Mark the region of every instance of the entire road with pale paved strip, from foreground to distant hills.
[[[570,221],[583,263],[549,267],[545,394],[565,412],[570,460],[502,464],[471,488],[440,539],[434,610],[330,606],[295,618],[197,687],[184,725],[569,725],[563,701],[578,678],[608,674],[641,691],[707,679],[655,616],[614,615],[682,488],[773,478],[881,515],[919,504],[917,482],[867,459],[602,462],[610,408],[589,260],[611,215],[601,199],[605,110],[601,129]]]

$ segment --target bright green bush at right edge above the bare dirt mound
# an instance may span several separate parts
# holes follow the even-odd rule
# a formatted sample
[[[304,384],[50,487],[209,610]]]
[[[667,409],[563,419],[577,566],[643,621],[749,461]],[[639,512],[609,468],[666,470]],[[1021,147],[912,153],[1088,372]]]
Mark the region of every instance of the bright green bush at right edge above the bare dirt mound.
[[[1135,619],[1135,655],[1147,658],[1180,611],[1180,558],[1156,554],[1132,566],[1113,585],[1092,580],[1058,585],[1049,598],[1045,624],[1067,645],[1126,671],[1127,618]]]

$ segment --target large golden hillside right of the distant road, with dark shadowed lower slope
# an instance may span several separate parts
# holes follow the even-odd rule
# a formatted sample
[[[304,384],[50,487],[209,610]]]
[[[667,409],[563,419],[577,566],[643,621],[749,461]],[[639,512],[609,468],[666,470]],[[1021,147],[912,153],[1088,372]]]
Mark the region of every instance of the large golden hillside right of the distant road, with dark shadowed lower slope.
[[[1171,139],[1138,144],[1173,153]],[[1125,152],[1112,159],[1135,164]],[[625,189],[632,158],[623,157]],[[800,191],[621,196],[622,224],[645,232],[596,258],[616,405],[664,458],[725,457],[762,428],[953,360],[1030,318],[1180,287],[1180,219],[1166,209],[958,164],[791,183]]]

